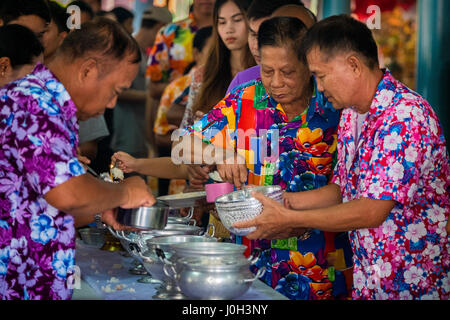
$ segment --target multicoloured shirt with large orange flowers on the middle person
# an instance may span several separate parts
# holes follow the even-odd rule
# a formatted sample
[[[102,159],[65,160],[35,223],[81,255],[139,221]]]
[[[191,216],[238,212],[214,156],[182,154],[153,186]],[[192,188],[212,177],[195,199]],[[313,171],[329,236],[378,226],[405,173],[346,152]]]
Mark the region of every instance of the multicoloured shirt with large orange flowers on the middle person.
[[[316,90],[315,81],[309,107],[288,121],[282,106],[256,80],[234,88],[187,130],[207,143],[241,154],[249,170],[249,184],[280,185],[297,192],[328,183],[338,122],[339,112]],[[351,266],[345,233],[314,230],[306,240],[250,242],[237,237],[241,240],[249,247],[247,253],[255,247],[263,249],[255,269],[266,266],[264,281],[287,297],[332,299],[346,295],[344,276],[337,271]],[[330,258],[333,266],[328,263]]]

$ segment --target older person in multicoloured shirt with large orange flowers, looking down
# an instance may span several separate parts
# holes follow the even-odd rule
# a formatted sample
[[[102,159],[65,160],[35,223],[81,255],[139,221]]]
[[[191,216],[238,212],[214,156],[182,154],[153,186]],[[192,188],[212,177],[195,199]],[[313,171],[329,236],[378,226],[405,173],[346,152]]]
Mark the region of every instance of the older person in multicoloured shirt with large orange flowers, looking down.
[[[237,187],[242,183],[280,185],[292,192],[326,185],[339,112],[317,91],[314,78],[300,61],[298,46],[305,33],[305,25],[296,18],[265,21],[258,35],[261,79],[234,88],[187,128],[190,135],[172,154],[200,137],[204,148],[215,147],[216,155],[224,149],[233,151],[231,162],[216,159],[215,164],[220,176]],[[189,155],[183,156],[189,160]],[[245,164],[237,164],[238,159]],[[308,239],[270,243],[237,238],[241,240],[248,246],[247,253],[254,247],[264,250],[256,267],[266,266],[264,281],[287,297],[345,297],[345,278],[337,270],[351,267],[346,234],[314,230]]]

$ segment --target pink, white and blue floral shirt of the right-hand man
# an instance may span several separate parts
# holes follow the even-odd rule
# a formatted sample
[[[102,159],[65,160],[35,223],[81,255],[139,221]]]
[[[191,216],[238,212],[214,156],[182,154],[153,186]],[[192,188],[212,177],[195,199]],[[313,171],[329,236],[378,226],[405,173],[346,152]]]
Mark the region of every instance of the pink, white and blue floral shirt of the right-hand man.
[[[450,166],[427,101],[386,71],[359,142],[356,112],[343,111],[333,182],[344,201],[394,200],[377,228],[349,232],[354,299],[448,299]]]

